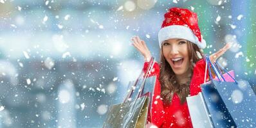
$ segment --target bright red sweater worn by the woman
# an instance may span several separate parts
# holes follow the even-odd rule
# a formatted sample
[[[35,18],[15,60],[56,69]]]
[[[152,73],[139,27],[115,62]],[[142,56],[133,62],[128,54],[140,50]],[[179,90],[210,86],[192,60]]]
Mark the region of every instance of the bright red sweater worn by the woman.
[[[148,62],[144,63],[144,72],[147,70],[148,65]],[[172,103],[170,105],[163,104],[163,101],[160,99],[161,85],[158,80],[160,76],[160,67],[158,63],[154,63],[151,76],[157,76],[152,100],[152,124],[163,128],[192,127],[187,102],[181,104],[176,93],[174,93]],[[197,61],[196,66],[194,67],[193,76],[190,82],[190,95],[197,95],[197,93],[201,92],[200,84],[204,82],[204,77],[205,60],[201,59]]]

